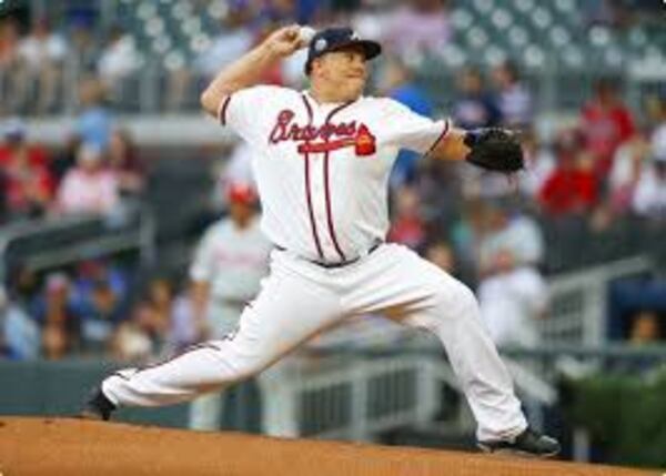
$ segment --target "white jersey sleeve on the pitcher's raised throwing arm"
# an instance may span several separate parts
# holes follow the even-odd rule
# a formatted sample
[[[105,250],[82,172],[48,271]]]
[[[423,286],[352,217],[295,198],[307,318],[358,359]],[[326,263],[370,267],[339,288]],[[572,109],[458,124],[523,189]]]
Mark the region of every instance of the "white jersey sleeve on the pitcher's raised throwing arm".
[[[220,104],[218,120],[250,144],[265,141],[268,128],[285,88],[255,85],[230,94]]]

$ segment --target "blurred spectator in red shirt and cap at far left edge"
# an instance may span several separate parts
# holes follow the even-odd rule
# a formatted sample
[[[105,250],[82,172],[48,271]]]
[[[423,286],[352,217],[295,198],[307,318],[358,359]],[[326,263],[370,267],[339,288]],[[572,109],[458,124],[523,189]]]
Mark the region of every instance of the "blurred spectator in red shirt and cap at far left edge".
[[[2,196],[9,220],[41,216],[53,195],[53,178],[42,149],[26,141],[26,130],[18,120],[4,124],[4,143],[0,148]]]

